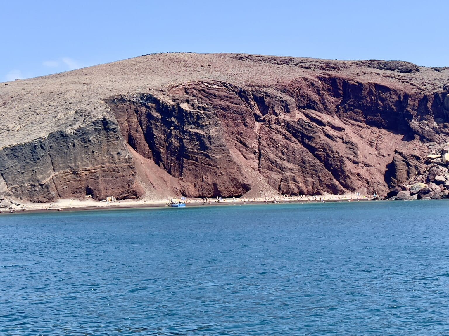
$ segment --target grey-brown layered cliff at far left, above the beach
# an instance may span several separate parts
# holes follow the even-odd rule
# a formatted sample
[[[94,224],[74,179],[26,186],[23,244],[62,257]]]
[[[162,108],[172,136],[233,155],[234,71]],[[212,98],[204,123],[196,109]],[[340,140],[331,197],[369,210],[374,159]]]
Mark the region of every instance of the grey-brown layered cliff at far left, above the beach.
[[[133,158],[118,125],[103,119],[73,134],[57,131],[0,151],[0,174],[9,193],[31,202],[107,195],[136,198]]]

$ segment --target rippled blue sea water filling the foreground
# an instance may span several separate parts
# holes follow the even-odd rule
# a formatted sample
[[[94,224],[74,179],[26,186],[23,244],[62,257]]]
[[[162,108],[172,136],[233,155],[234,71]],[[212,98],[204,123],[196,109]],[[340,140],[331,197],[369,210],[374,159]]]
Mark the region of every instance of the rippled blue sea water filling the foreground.
[[[2,335],[448,335],[449,203],[0,216]]]

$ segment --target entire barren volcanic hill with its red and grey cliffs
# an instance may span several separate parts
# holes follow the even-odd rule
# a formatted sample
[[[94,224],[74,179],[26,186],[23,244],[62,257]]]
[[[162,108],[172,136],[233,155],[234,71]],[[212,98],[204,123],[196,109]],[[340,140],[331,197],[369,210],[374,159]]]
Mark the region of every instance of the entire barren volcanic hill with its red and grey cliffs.
[[[449,68],[246,54],[0,83],[0,195],[385,195],[421,181],[444,196],[448,93]]]

